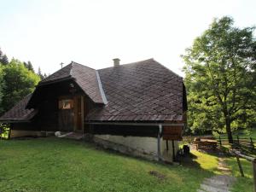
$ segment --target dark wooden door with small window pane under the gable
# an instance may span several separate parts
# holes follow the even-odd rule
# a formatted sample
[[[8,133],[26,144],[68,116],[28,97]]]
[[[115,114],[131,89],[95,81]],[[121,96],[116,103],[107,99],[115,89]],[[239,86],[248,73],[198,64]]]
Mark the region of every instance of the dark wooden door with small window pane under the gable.
[[[74,128],[74,109],[73,99],[59,99],[59,130],[73,131]]]

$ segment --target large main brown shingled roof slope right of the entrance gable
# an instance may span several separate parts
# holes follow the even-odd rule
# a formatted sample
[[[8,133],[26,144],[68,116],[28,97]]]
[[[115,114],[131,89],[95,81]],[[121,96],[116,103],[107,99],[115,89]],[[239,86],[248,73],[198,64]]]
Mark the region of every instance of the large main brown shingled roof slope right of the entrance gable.
[[[154,59],[98,72],[108,104],[88,120],[183,120],[183,79]]]

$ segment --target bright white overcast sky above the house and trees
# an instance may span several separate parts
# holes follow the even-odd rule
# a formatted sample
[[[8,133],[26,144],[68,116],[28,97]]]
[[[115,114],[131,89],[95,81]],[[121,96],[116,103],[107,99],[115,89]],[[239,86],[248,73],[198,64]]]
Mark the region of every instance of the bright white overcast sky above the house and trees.
[[[71,61],[96,69],[154,58],[183,76],[180,55],[211,24],[255,26],[255,0],[0,0],[0,48],[54,73]]]

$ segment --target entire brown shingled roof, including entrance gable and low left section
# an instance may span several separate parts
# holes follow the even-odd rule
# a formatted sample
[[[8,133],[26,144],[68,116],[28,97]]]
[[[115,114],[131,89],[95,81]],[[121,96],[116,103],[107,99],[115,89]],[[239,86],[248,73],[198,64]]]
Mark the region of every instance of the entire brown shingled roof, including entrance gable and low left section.
[[[183,79],[154,59],[97,71],[72,62],[40,84],[63,79],[75,80],[93,102],[103,103],[102,97],[106,96],[105,105],[90,110],[86,118],[89,121],[179,121],[187,108]],[[36,111],[25,109],[30,97],[26,96],[0,121],[31,119]]]

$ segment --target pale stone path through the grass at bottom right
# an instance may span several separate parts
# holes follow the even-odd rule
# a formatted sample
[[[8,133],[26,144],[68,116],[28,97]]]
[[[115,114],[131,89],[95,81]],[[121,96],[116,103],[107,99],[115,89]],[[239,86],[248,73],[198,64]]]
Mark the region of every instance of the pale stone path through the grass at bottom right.
[[[206,178],[201,183],[201,189],[198,189],[197,192],[230,192],[230,187],[236,178],[230,176],[231,171],[221,157],[218,158],[218,171],[222,175]]]

